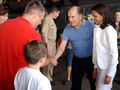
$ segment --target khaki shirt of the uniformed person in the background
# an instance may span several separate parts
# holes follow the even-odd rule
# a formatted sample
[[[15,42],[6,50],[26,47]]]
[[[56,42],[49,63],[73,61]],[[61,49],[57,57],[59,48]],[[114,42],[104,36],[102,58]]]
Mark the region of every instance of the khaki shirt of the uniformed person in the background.
[[[48,15],[44,18],[44,21],[42,24],[42,32],[47,35],[48,44],[50,46],[52,54],[54,55],[56,51],[57,27],[54,20],[50,18]]]

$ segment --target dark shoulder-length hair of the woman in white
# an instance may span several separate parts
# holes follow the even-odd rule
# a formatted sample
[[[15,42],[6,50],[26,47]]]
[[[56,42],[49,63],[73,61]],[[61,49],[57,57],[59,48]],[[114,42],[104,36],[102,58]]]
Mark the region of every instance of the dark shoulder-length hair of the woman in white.
[[[108,6],[106,6],[105,4],[96,4],[92,7],[92,10],[98,12],[103,17],[103,22],[100,25],[102,29],[107,27],[109,24],[114,28],[116,27],[115,23],[112,21],[112,16]]]

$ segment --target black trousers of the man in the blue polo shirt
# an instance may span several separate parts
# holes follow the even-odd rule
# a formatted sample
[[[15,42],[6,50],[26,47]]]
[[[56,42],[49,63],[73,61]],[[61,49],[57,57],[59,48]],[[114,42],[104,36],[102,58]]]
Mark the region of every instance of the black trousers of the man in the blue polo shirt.
[[[75,56],[73,57],[71,90],[81,90],[84,72],[87,73],[91,90],[95,90],[95,80],[92,77],[93,72],[92,56],[87,58],[77,58]]]

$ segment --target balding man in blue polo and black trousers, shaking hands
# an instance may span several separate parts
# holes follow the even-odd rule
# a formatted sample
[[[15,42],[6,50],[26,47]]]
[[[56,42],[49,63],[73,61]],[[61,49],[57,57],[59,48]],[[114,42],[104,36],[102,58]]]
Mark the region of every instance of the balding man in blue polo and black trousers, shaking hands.
[[[92,77],[92,49],[93,49],[93,29],[94,24],[82,19],[82,11],[79,6],[73,6],[68,11],[69,24],[63,32],[62,42],[57,49],[54,62],[62,55],[68,40],[73,47],[72,64],[72,88],[71,90],[81,90],[84,72],[87,73],[91,90],[95,90],[95,80]]]

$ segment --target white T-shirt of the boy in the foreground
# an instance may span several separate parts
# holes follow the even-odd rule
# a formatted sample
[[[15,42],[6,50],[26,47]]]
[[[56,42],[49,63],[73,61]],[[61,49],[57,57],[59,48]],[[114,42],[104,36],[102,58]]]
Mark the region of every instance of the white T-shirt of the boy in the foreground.
[[[51,90],[50,81],[39,70],[21,68],[14,80],[15,90]]]

